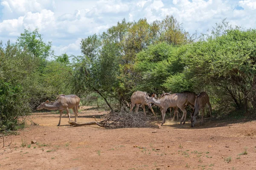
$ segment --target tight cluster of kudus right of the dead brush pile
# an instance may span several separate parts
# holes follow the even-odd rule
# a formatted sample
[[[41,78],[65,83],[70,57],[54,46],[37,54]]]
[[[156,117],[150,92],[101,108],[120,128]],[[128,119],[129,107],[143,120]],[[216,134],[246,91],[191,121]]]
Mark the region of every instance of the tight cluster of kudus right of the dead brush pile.
[[[136,105],[135,111],[137,112],[139,109],[140,104],[143,107],[144,114],[145,114],[145,105],[147,105],[150,110],[154,113],[154,110],[151,107],[151,103],[154,103],[157,106],[160,106],[160,110],[162,113],[162,125],[164,124],[166,111],[168,108],[174,108],[174,116],[177,115],[178,119],[178,109],[183,112],[183,115],[180,119],[180,124],[185,124],[186,121],[186,106],[189,105],[193,109],[193,113],[190,114],[191,116],[191,127],[195,126],[196,116],[198,115],[198,111],[202,109],[202,120],[203,122],[203,116],[204,116],[204,106],[208,105],[210,116],[212,117],[212,107],[210,105],[209,96],[206,92],[201,92],[200,94],[196,95],[194,92],[191,91],[183,91],[181,93],[176,94],[170,94],[170,93],[164,93],[160,96],[159,99],[156,98],[156,95],[153,94],[151,97],[148,96],[146,92],[143,91],[136,91],[131,96],[131,109],[134,108],[134,105]],[[155,113],[154,116],[156,117]],[[171,114],[172,118],[172,114]]]

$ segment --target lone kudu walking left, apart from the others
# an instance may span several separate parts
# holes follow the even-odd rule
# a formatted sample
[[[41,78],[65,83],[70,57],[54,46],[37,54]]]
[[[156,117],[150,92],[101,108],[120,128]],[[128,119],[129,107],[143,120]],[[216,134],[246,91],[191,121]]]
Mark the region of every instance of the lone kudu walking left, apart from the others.
[[[75,122],[77,121],[77,115],[78,115],[78,109],[79,109],[79,103],[80,103],[80,98],[76,96],[75,94],[70,94],[70,95],[64,95],[61,94],[57,97],[56,101],[53,103],[49,103],[49,100],[46,102],[41,103],[36,110],[41,110],[41,109],[48,109],[48,110],[59,110],[60,111],[60,120],[57,126],[61,124],[61,116],[62,112],[64,110],[67,111],[67,116],[70,120],[70,113],[69,109],[72,109],[73,112],[75,113]]]

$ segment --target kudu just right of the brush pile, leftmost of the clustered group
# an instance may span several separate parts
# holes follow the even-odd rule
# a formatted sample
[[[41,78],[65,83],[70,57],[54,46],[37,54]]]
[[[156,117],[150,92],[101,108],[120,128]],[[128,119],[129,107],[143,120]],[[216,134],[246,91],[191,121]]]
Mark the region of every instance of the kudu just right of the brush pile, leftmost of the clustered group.
[[[147,105],[150,110],[153,112],[154,116],[157,118],[156,114],[154,113],[154,110],[151,107],[151,104],[147,104],[147,100],[149,99],[149,96],[146,92],[143,91],[135,91],[132,95],[131,95],[131,109],[130,112],[132,111],[132,109],[134,108],[134,105],[136,105],[136,109],[135,112],[138,112],[139,106],[140,104],[143,107],[143,111],[144,114],[146,115],[145,111],[145,105]]]

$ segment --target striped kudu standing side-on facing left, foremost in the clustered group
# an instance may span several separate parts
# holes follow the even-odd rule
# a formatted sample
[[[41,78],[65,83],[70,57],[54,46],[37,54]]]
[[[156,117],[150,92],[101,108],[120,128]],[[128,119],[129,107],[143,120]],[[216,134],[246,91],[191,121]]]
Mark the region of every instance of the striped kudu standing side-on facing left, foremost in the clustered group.
[[[165,122],[164,118],[166,115],[166,111],[168,108],[175,108],[175,111],[177,111],[178,108],[183,112],[183,116],[180,120],[180,124],[182,123],[183,119],[183,124],[185,124],[186,120],[186,105],[188,104],[188,98],[183,95],[183,94],[169,94],[169,95],[164,95],[161,99],[155,99],[155,94],[153,94],[150,99],[148,99],[147,103],[151,104],[154,103],[157,106],[161,106],[163,109],[161,110],[162,113],[162,125]]]

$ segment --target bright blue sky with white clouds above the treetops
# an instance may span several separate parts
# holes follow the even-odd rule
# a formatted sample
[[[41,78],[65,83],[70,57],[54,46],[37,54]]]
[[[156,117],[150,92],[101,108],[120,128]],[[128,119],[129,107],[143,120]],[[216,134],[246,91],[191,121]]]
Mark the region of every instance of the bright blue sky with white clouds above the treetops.
[[[125,18],[151,23],[173,15],[186,31],[206,32],[222,19],[256,28],[256,0],[0,0],[0,40],[40,29],[56,55],[80,55],[80,41]]]

